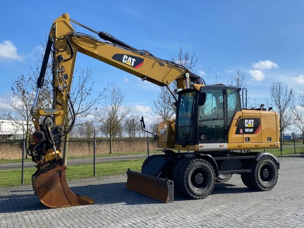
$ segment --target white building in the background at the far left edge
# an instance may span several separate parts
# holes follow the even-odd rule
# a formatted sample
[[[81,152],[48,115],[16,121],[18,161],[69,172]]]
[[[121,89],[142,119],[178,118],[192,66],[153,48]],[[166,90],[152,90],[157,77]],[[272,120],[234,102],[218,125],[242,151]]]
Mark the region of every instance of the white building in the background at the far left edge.
[[[26,121],[19,121],[19,123],[16,124],[16,122],[12,120],[0,119],[0,124],[1,139],[15,139],[22,138],[22,124],[26,126]]]

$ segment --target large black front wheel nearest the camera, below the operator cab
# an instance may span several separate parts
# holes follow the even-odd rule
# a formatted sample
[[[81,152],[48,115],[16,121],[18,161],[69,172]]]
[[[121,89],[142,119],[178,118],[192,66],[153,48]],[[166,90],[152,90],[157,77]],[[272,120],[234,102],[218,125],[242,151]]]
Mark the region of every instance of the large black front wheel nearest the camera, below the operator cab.
[[[215,172],[204,159],[185,160],[178,171],[178,190],[192,199],[204,199],[215,185]]]

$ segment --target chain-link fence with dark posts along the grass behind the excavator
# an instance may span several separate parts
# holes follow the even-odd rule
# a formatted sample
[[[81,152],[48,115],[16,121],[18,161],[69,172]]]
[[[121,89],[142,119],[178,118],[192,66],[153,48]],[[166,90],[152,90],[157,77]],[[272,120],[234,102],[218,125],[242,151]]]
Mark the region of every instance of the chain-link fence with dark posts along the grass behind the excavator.
[[[303,137],[285,137],[281,139],[281,148],[257,152],[265,151],[275,156],[302,153],[303,140]],[[159,153],[155,141],[147,139],[70,140],[67,143],[67,179],[125,174],[128,168],[140,171],[149,153]],[[36,168],[30,157],[22,159],[26,145],[23,141],[0,142],[0,187],[31,183]]]

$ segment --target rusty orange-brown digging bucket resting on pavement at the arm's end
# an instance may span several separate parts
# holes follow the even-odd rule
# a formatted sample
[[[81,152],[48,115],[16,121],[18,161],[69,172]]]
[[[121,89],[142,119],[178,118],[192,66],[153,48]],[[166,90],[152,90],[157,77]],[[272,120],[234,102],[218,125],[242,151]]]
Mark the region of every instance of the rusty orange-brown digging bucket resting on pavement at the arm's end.
[[[40,202],[51,208],[93,204],[93,199],[71,191],[65,177],[66,168],[60,159],[51,169],[38,168],[32,175],[33,189]]]

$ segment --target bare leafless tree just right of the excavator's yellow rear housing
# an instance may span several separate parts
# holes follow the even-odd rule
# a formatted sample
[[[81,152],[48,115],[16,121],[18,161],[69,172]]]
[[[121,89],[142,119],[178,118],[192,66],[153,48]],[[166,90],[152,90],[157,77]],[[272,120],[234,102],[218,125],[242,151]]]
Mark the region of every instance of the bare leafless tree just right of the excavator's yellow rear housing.
[[[293,89],[283,85],[281,81],[273,82],[270,91],[270,100],[273,108],[279,114],[280,136],[284,135],[285,130],[293,123],[293,112],[295,108],[295,96]],[[266,100],[266,103],[269,101]]]

